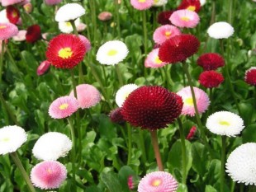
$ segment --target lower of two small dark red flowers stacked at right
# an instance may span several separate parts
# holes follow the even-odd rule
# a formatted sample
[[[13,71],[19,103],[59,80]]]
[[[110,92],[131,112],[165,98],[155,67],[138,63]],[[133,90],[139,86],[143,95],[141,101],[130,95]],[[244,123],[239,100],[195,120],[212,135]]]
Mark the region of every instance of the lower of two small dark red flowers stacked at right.
[[[205,71],[200,74],[198,82],[206,88],[218,87],[221,82],[224,81],[224,77],[221,73],[216,71]]]

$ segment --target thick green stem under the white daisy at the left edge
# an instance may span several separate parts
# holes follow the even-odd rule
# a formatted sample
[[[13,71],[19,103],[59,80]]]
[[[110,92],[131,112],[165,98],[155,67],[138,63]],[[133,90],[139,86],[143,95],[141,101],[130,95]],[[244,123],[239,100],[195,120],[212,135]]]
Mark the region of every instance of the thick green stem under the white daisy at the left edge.
[[[27,187],[29,188],[29,190],[31,192],[36,192],[34,186],[31,183],[29,176],[27,176],[24,166],[22,166],[21,160],[18,157],[17,152],[11,152],[10,155],[12,157],[13,162],[16,164],[18,169],[21,171],[21,175],[23,176],[24,180],[26,181],[26,184],[27,184]]]

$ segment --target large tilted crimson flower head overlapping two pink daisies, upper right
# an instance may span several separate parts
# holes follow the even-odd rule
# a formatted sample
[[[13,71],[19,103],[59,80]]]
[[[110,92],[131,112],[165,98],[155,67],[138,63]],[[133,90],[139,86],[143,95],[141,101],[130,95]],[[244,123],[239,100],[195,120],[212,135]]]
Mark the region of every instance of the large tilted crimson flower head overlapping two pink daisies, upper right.
[[[196,54],[200,41],[194,35],[176,35],[164,41],[159,48],[159,59],[166,63],[183,62],[192,54]]]

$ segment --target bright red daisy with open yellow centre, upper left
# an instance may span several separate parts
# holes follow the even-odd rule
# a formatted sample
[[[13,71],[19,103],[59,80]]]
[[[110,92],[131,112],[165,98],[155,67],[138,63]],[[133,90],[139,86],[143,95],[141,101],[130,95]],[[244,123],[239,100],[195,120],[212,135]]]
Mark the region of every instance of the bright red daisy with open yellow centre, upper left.
[[[46,57],[56,68],[73,68],[83,61],[85,52],[85,46],[79,37],[61,34],[50,40]]]

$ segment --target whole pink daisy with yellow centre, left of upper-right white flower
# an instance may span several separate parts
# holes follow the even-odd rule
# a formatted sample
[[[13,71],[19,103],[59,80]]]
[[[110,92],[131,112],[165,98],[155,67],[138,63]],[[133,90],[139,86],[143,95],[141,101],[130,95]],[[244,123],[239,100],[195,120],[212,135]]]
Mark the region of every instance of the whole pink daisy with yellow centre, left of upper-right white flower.
[[[169,20],[173,23],[174,26],[193,28],[197,26],[197,24],[200,21],[200,18],[197,12],[182,9],[173,12]]]

